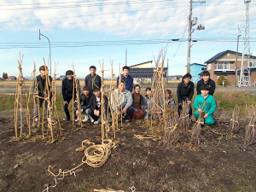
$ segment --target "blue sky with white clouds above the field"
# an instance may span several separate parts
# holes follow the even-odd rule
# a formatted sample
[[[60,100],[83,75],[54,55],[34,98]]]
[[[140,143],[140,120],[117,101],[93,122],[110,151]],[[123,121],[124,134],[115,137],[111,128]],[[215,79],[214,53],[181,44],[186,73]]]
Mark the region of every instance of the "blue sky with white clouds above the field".
[[[201,63],[230,49],[242,52],[246,4],[243,0],[206,0],[193,3],[190,63]],[[256,1],[249,3],[250,48],[256,55]],[[20,54],[22,72],[30,77],[33,63],[50,66],[56,77],[75,70],[79,78],[96,66],[109,78],[119,67],[157,59],[166,50],[169,75],[186,73],[189,0],[0,0],[0,76],[17,76]],[[205,30],[196,30],[197,26]],[[39,40],[39,29],[41,34]],[[173,41],[177,39],[177,41]],[[125,54],[125,52],[127,54]],[[126,57],[127,55],[127,57]],[[99,73],[102,76],[102,73]]]

